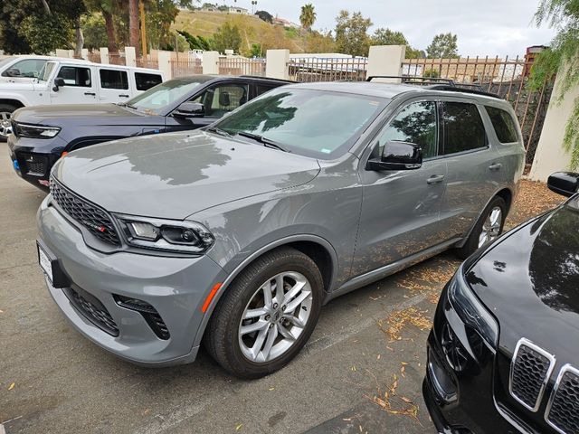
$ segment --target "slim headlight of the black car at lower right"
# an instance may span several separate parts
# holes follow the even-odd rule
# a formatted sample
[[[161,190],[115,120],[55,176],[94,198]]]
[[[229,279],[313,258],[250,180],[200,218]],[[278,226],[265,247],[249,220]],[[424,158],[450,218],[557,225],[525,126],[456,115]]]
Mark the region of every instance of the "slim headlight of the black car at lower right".
[[[462,275],[462,268],[456,272],[451,280],[448,297],[462,322],[475,330],[490,346],[497,348],[497,320],[469,287]]]

